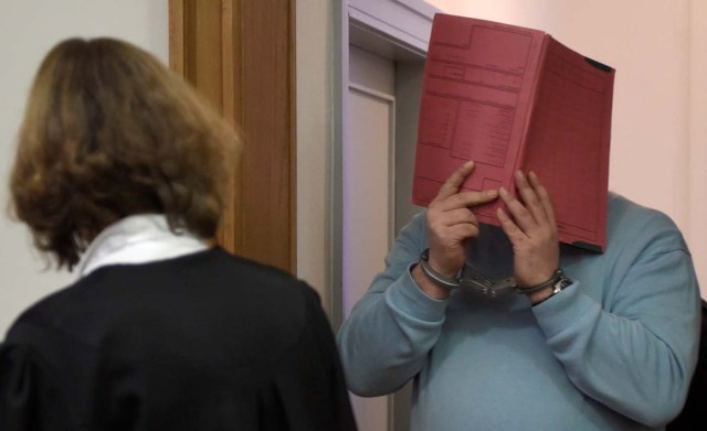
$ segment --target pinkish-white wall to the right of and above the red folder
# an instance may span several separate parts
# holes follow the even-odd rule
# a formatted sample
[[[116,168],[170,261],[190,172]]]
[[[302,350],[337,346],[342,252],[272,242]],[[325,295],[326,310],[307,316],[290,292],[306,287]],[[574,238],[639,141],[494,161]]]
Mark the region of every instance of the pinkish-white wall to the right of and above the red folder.
[[[428,2],[544,30],[616,69],[609,186],[675,220],[707,298],[707,1]]]

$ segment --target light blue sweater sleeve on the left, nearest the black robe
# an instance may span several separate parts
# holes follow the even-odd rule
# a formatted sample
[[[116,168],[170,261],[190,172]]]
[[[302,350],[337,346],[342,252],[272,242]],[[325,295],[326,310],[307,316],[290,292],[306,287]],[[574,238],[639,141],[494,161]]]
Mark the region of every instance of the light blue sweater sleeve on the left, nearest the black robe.
[[[349,389],[374,397],[401,388],[424,365],[444,323],[447,301],[433,300],[415,284],[410,267],[426,247],[424,213],[405,226],[338,333]]]

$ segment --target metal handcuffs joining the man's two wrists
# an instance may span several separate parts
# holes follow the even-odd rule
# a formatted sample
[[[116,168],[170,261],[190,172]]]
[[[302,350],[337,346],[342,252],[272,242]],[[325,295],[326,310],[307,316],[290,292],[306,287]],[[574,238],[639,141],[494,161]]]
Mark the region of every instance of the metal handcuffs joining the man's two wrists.
[[[442,288],[450,290],[457,288],[468,289],[489,298],[504,297],[511,292],[530,294],[550,287],[552,288],[551,295],[555,295],[572,283],[572,280],[567,278],[560,268],[555,271],[548,281],[529,288],[519,288],[514,277],[495,279],[477,272],[468,265],[464,265],[457,277],[452,279],[442,276],[430,267],[429,248],[425,248],[420,255],[419,265],[422,272]]]

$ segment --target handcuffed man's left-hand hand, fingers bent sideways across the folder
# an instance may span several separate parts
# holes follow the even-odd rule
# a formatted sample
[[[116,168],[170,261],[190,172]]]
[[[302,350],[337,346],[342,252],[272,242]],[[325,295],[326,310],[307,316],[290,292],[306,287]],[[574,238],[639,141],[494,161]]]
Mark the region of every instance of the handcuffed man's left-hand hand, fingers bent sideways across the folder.
[[[436,197],[428,206],[428,230],[430,235],[430,267],[442,276],[453,278],[464,266],[466,243],[478,236],[478,220],[469,207],[495,200],[498,192],[460,192],[460,186],[474,170],[468,161],[456,170],[440,188]],[[421,273],[413,270],[420,287],[432,298],[446,298],[444,288],[435,288]]]

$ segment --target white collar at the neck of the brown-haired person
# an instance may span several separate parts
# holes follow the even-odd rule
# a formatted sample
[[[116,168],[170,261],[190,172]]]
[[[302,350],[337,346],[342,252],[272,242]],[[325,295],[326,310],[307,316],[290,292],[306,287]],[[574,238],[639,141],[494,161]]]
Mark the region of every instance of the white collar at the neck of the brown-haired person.
[[[207,248],[197,235],[171,231],[163,214],[133,215],[101,231],[81,256],[74,273],[80,279],[107,265],[147,263]]]

